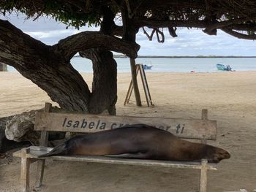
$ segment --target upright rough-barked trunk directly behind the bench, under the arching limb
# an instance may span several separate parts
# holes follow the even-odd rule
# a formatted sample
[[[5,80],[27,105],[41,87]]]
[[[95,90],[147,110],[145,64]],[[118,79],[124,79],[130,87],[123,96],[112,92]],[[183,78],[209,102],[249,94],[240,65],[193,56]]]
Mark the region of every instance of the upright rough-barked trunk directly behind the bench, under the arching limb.
[[[108,110],[110,115],[116,115],[117,69],[113,53],[91,49],[80,52],[80,55],[91,59],[94,70],[89,112],[99,114]]]

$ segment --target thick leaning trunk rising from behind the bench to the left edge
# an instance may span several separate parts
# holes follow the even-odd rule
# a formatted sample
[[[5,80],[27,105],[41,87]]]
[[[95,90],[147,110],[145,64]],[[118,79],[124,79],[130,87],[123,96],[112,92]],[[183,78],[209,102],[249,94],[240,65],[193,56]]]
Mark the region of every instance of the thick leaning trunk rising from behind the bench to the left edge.
[[[0,61],[15,67],[46,91],[61,108],[88,112],[91,92],[83,77],[59,52],[0,20]]]

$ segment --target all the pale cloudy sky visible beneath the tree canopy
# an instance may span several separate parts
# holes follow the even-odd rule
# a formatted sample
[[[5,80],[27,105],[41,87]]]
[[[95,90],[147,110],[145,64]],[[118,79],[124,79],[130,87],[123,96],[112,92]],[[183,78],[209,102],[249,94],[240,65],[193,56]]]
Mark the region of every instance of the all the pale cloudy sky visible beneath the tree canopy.
[[[38,20],[26,20],[24,15],[9,15],[0,19],[9,20],[14,26],[20,28],[24,33],[44,42],[47,45],[54,45],[60,39],[64,39],[72,34],[81,31],[98,31],[98,28],[68,28],[63,23],[39,18]],[[146,29],[150,34],[150,29]],[[149,41],[143,31],[137,34],[137,43],[140,45],[138,55],[236,55],[236,56],[255,56],[256,41],[238,39],[225,32],[218,30],[217,36],[209,36],[201,29],[178,28],[178,37],[170,37],[167,29],[164,29],[165,42],[157,42],[156,35]]]

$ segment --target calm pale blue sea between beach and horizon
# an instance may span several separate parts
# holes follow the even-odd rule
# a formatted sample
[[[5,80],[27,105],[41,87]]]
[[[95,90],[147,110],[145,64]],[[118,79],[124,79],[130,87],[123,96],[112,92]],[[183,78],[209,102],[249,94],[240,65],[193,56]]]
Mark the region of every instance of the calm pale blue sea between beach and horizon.
[[[115,60],[118,72],[130,72],[129,58]],[[217,70],[216,64],[230,65],[235,71],[256,70],[256,58],[137,58],[136,63],[152,65],[146,72],[225,72]],[[71,64],[78,72],[92,72],[89,59],[74,57]],[[7,69],[16,71],[12,66]]]

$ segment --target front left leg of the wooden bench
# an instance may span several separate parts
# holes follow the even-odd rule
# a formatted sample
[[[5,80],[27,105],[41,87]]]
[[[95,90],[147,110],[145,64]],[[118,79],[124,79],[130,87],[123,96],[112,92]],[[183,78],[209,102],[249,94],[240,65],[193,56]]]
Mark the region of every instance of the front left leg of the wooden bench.
[[[21,163],[20,163],[20,191],[29,191],[29,167],[30,159],[26,158],[26,154],[29,153],[29,148],[23,148],[21,150]]]

